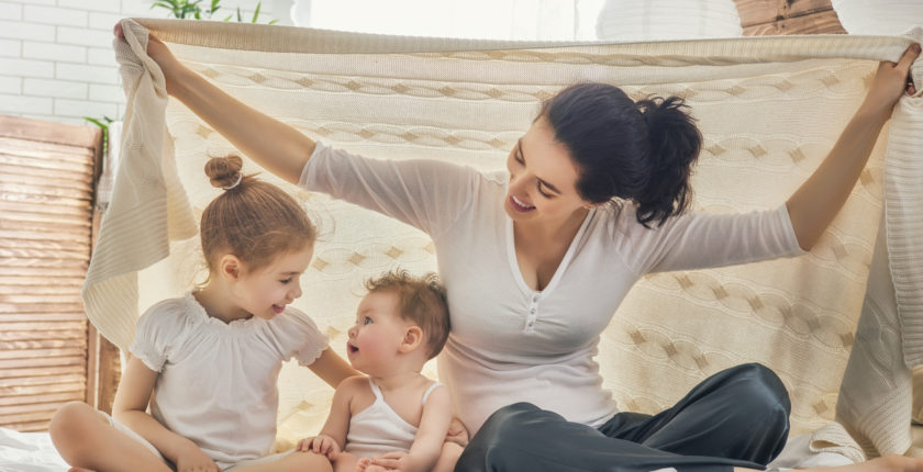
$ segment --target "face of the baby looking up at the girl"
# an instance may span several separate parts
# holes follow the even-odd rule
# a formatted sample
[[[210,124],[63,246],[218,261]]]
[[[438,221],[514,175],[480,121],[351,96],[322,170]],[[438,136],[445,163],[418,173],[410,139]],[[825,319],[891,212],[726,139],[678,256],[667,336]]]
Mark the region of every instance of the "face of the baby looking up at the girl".
[[[369,375],[382,375],[398,355],[411,323],[400,317],[397,293],[372,292],[356,310],[356,324],[349,328],[346,356],[353,368]]]

